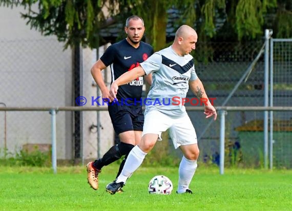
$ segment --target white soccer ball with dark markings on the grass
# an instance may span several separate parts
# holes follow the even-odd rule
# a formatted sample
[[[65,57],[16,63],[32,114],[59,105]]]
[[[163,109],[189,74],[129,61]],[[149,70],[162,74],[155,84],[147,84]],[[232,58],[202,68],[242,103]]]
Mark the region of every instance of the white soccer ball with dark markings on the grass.
[[[170,195],[173,190],[173,185],[168,177],[158,175],[153,177],[148,185],[150,194]]]

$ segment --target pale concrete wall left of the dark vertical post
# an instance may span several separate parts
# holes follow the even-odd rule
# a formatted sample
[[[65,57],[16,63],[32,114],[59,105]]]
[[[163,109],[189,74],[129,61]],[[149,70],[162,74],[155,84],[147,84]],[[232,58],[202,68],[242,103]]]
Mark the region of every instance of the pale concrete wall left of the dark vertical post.
[[[0,102],[7,107],[60,107],[72,104],[72,51],[54,36],[31,30],[20,8],[0,7]],[[4,114],[0,133],[4,134]],[[70,113],[57,114],[57,157],[72,158]],[[49,112],[7,112],[9,152],[26,143],[51,143]],[[3,135],[0,137],[3,149]]]

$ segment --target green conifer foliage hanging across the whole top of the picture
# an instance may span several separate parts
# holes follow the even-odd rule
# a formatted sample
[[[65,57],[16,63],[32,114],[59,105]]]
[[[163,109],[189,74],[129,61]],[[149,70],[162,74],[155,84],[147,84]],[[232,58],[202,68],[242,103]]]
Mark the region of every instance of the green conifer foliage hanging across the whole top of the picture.
[[[200,40],[256,39],[263,36],[264,27],[272,28],[277,37],[292,36],[290,0],[0,0],[0,6],[23,6],[27,24],[45,36],[56,35],[66,42],[65,48],[96,48],[100,29],[138,14],[147,27],[147,40],[160,50],[166,44],[170,10],[179,11],[174,30],[181,24],[194,26]]]

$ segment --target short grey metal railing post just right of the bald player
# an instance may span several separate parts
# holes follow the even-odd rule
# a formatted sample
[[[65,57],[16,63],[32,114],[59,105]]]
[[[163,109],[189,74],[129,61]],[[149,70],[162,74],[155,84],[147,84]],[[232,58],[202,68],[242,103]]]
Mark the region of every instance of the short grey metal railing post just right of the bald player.
[[[224,174],[224,156],[225,156],[225,115],[226,111],[220,110],[220,174]]]

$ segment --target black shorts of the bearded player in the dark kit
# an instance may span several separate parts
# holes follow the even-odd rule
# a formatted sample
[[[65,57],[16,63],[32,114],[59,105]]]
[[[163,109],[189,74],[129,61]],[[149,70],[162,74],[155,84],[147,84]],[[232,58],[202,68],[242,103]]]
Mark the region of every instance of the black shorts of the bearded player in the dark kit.
[[[116,134],[126,131],[143,131],[144,114],[142,106],[127,106],[113,103],[108,106]]]

